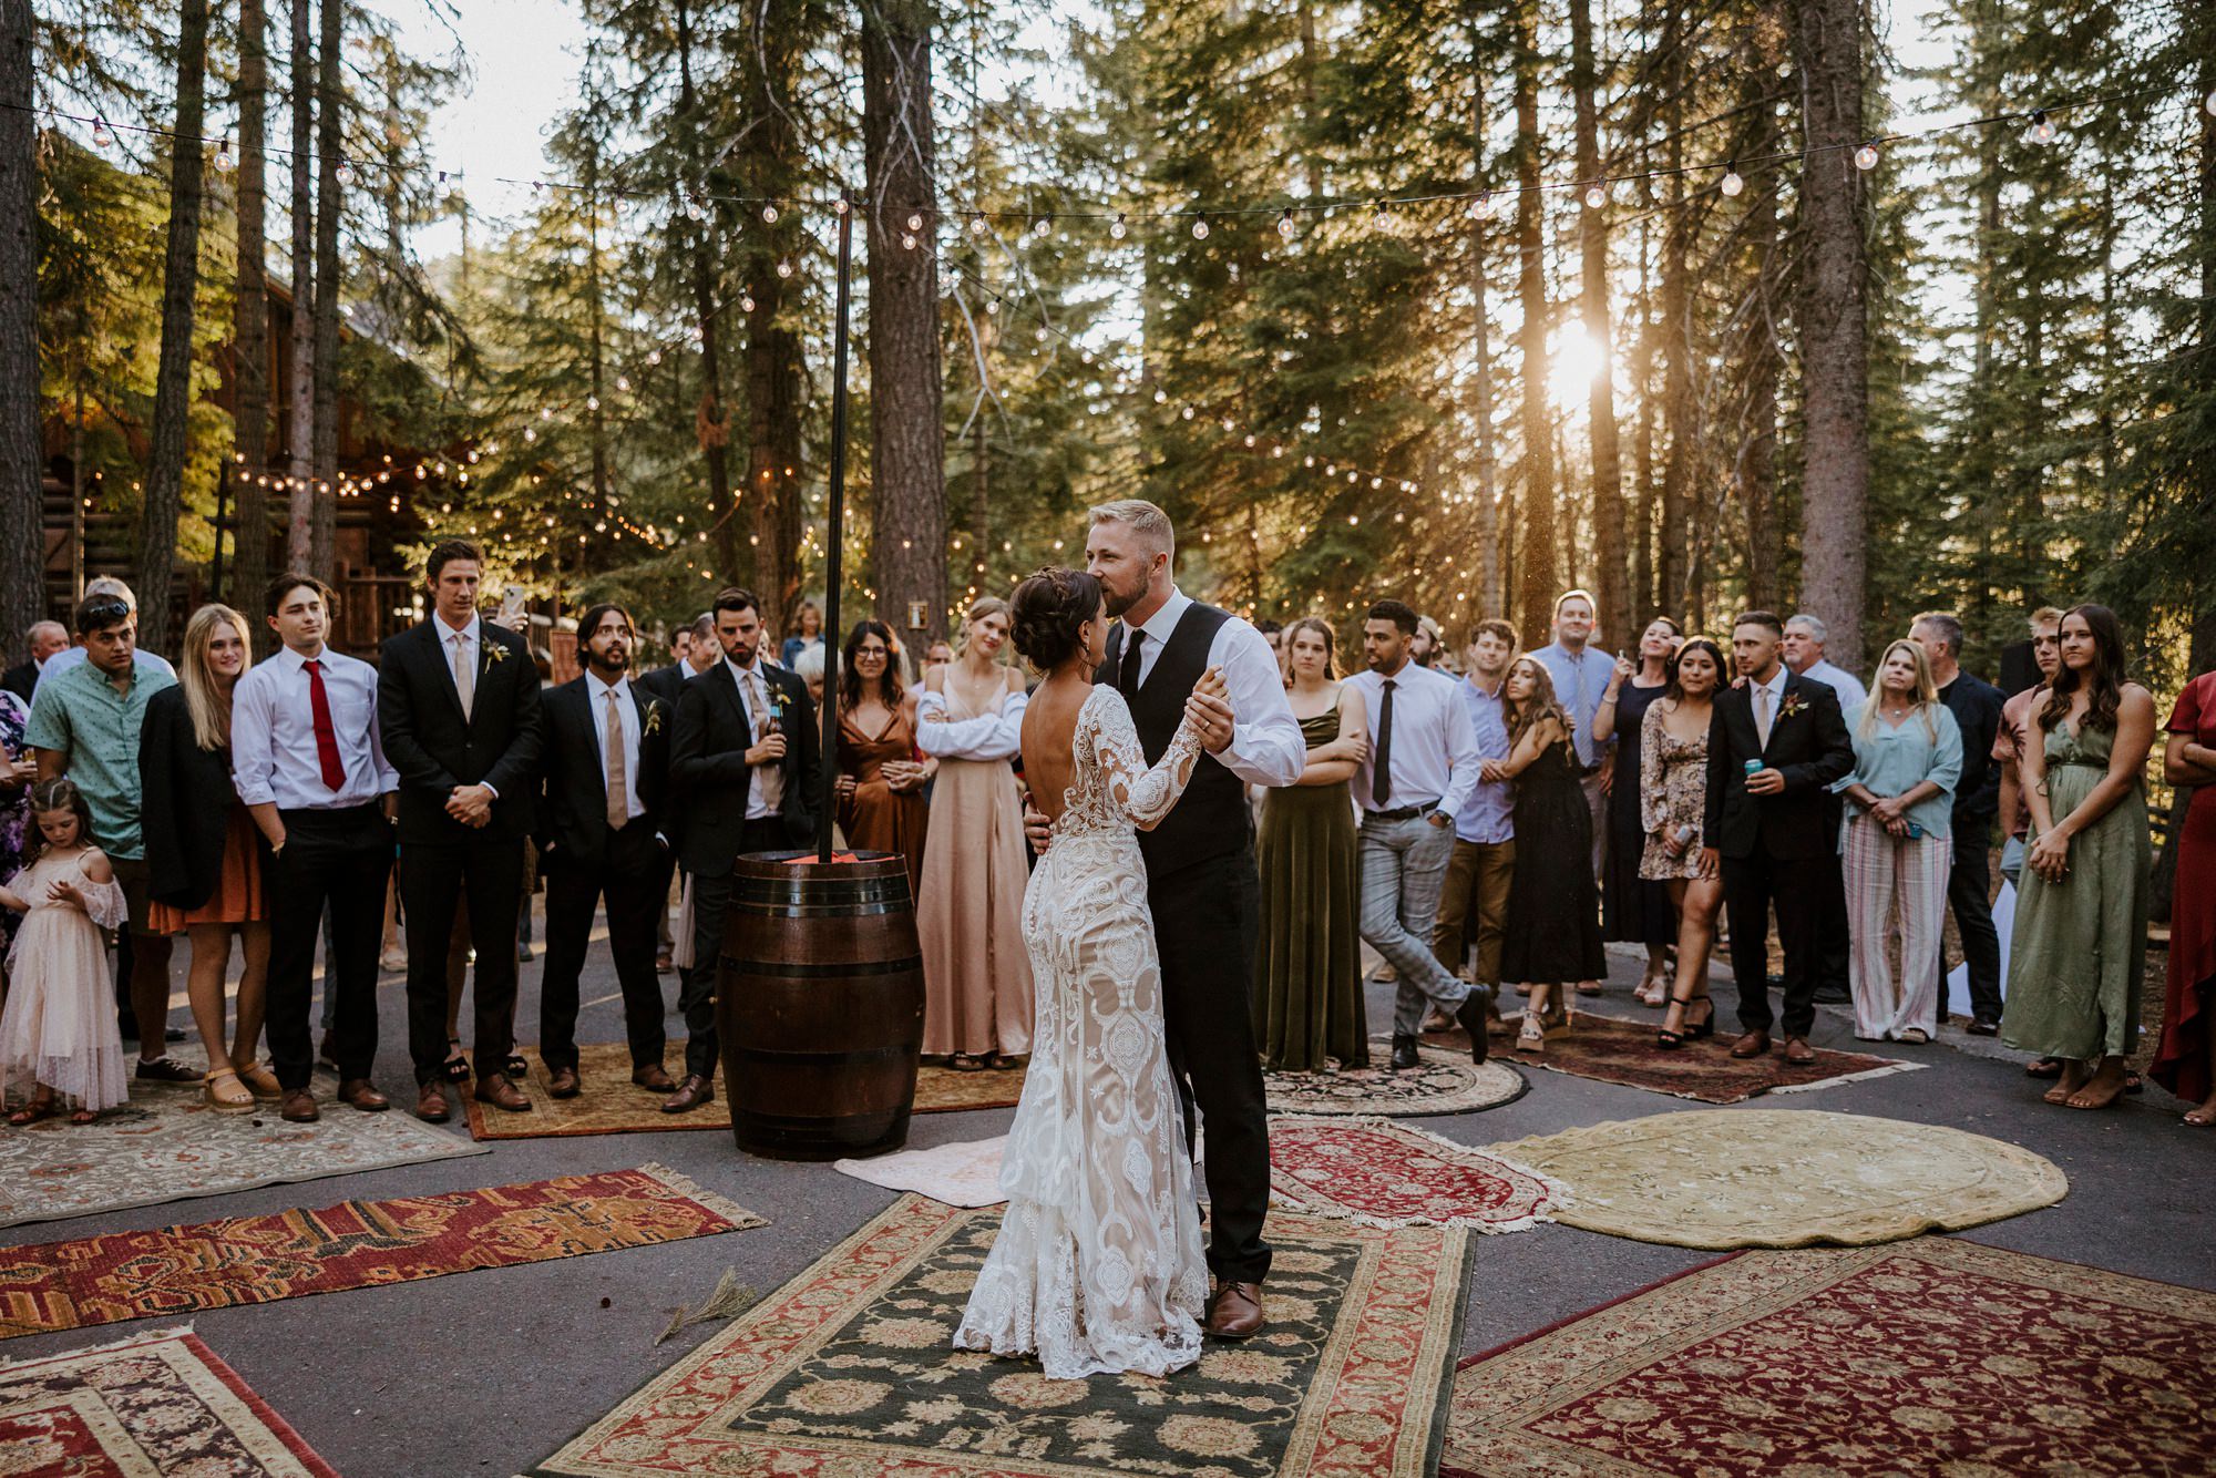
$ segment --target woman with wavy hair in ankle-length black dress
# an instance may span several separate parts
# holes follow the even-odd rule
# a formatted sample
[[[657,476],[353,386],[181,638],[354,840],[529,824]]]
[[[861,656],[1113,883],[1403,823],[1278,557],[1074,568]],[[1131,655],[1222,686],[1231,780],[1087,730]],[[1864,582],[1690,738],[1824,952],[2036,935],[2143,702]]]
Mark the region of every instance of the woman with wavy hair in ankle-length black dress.
[[[1516,782],[1516,877],[1500,977],[1531,984],[1516,1050],[1545,1053],[1547,1028],[1569,1030],[1564,982],[1600,979],[1609,968],[1593,897],[1593,818],[1553,678],[1536,660],[1516,658],[1500,694],[1511,742],[1507,773]]]

